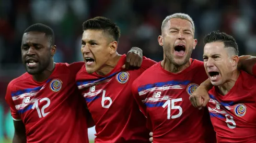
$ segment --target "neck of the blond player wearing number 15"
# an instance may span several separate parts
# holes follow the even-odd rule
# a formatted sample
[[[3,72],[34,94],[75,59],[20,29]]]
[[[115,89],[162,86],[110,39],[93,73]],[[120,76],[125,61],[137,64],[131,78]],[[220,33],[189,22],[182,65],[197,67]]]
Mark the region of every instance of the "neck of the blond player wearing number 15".
[[[190,65],[191,65],[190,60],[187,63],[183,64],[182,66],[177,66],[166,58],[164,58],[164,60],[161,61],[162,68],[171,73],[180,73],[183,70],[187,69]]]

